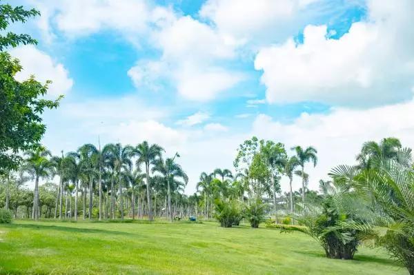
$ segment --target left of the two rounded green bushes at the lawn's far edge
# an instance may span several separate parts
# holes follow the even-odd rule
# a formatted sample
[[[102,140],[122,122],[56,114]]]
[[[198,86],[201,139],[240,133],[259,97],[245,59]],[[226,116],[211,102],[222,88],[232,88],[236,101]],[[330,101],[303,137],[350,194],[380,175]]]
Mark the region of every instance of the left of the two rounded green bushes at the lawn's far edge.
[[[221,227],[232,227],[238,225],[242,220],[242,212],[235,201],[215,201],[215,218],[219,221]]]

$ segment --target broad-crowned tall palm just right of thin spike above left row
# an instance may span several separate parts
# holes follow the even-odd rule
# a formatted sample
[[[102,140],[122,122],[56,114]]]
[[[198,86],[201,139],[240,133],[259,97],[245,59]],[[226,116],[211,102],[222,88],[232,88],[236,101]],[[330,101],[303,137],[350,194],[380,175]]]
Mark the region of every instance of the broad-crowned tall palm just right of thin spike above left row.
[[[131,156],[134,152],[134,148],[130,145],[122,147],[121,143],[116,143],[106,145],[104,150],[106,152],[106,158],[110,159],[110,162],[118,175],[121,219],[124,219],[124,198],[122,196],[121,172],[123,169],[130,170],[132,167]]]

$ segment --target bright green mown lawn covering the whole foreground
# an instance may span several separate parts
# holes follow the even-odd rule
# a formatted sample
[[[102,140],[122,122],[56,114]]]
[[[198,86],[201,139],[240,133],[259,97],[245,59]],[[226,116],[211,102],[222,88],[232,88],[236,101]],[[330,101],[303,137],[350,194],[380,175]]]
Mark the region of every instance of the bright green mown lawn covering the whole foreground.
[[[0,274],[408,274],[382,250],[324,257],[299,232],[217,223],[0,225]]]

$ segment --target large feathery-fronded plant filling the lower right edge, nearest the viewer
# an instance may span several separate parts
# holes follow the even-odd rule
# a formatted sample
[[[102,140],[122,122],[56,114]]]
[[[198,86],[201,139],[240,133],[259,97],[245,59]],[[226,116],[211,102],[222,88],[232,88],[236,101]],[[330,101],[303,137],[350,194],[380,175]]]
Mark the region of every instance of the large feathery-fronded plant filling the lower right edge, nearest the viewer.
[[[372,214],[386,234],[377,236],[388,252],[414,274],[414,170],[410,154],[406,161],[377,160],[359,170],[346,165],[335,168],[335,179],[347,182],[366,201],[373,202]]]

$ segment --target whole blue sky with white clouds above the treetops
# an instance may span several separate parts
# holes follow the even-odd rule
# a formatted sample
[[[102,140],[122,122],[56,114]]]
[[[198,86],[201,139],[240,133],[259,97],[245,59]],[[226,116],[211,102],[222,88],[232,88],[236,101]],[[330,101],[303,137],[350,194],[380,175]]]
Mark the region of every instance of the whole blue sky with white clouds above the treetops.
[[[41,12],[12,27],[39,41],[10,50],[17,79],[65,96],[44,114],[54,154],[148,140],[179,152],[193,194],[252,136],[316,147],[311,189],[364,141],[414,147],[412,0],[11,2]]]

